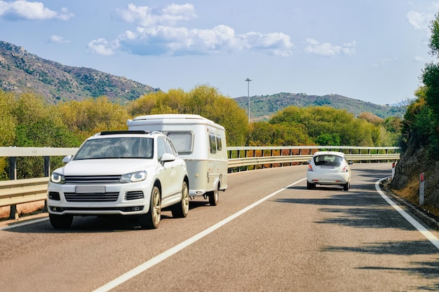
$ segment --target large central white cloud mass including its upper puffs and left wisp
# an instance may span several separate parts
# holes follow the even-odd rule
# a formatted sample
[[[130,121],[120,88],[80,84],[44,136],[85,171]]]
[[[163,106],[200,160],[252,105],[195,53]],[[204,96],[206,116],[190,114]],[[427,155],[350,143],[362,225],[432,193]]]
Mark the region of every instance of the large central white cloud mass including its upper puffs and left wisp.
[[[115,41],[117,47],[110,45],[109,49],[103,50],[108,48],[106,40],[90,42],[90,47],[99,45],[101,48],[94,50],[95,53],[108,55],[116,48],[136,55],[208,55],[255,50],[269,55],[289,56],[294,48],[290,36],[281,32],[236,34],[227,25],[210,29],[178,26],[179,22],[197,17],[193,4],[171,4],[157,12],[148,6],[129,4],[126,9],[116,10],[116,14],[120,20],[137,27],[121,34]]]

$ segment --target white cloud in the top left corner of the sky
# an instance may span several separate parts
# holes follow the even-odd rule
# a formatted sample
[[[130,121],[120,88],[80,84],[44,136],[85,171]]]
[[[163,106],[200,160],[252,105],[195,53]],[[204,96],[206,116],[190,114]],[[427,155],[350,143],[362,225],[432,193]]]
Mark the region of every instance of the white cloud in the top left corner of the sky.
[[[69,20],[74,17],[67,8],[62,8],[61,13],[51,11],[41,2],[17,0],[6,2],[0,0],[0,18],[6,20]]]

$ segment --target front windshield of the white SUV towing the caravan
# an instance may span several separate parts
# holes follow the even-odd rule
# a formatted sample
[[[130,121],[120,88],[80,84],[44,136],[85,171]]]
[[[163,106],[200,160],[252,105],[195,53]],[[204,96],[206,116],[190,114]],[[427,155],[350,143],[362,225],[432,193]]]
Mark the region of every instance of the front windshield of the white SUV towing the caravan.
[[[153,139],[142,137],[114,137],[90,139],[79,149],[74,160],[104,158],[151,159]]]

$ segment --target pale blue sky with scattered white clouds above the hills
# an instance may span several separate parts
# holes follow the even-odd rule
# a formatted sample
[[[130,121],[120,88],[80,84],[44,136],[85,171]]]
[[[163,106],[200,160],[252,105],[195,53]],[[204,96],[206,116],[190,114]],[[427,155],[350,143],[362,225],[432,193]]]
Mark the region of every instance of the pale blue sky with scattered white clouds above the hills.
[[[413,98],[439,1],[0,0],[0,40],[154,88]]]

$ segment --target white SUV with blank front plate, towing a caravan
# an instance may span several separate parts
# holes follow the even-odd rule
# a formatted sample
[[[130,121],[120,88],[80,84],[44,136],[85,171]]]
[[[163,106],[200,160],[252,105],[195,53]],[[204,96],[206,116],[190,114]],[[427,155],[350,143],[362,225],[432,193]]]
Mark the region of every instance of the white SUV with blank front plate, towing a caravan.
[[[161,132],[95,134],[66,156],[48,183],[54,228],[69,228],[73,216],[136,215],[142,228],[157,228],[161,209],[189,212],[187,167]]]

